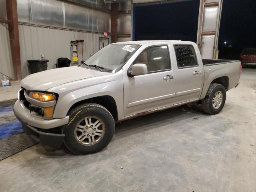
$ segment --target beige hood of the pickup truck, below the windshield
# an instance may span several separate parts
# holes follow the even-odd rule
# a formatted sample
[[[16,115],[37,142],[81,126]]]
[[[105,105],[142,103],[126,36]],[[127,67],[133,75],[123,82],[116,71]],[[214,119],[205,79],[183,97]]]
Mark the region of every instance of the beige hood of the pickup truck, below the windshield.
[[[49,88],[68,82],[107,74],[109,73],[73,66],[31,74],[24,78],[20,84],[27,90],[46,91]]]

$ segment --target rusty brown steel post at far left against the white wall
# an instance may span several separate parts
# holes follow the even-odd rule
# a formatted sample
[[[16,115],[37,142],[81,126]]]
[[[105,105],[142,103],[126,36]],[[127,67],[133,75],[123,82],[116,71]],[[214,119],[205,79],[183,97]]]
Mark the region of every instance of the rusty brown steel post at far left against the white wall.
[[[17,0],[6,0],[6,12],[8,19],[8,30],[10,37],[10,46],[12,52],[12,63],[16,70],[16,80],[21,80],[21,62],[20,62],[20,39],[18,28]]]

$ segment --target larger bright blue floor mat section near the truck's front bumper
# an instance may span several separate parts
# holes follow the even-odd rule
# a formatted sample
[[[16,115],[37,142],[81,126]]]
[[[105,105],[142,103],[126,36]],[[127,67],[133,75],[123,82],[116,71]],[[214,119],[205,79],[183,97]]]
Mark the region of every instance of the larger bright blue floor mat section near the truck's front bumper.
[[[23,133],[23,130],[19,121],[0,126],[0,140],[20,133]]]

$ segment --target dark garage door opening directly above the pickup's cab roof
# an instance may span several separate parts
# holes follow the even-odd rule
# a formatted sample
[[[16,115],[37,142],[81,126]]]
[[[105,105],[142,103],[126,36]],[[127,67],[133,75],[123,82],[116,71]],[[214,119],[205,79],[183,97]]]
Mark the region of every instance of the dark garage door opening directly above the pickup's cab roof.
[[[134,4],[133,40],[196,42],[200,0]]]

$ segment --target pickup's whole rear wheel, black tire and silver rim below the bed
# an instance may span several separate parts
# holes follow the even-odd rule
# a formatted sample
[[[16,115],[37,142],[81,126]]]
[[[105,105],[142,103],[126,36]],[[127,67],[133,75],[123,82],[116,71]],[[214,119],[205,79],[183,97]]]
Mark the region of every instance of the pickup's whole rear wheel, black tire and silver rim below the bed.
[[[202,100],[202,109],[210,115],[218,114],[224,107],[225,101],[225,87],[217,83],[210,84],[208,92]]]

